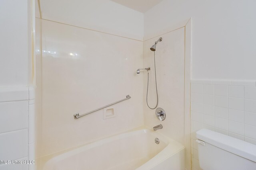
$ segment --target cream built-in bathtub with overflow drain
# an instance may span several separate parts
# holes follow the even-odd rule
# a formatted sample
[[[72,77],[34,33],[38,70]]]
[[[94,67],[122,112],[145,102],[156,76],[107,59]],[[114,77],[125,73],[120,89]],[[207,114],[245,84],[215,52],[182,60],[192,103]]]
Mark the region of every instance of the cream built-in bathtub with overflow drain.
[[[185,147],[148,129],[122,133],[70,150],[51,158],[43,167],[43,170],[184,169]]]

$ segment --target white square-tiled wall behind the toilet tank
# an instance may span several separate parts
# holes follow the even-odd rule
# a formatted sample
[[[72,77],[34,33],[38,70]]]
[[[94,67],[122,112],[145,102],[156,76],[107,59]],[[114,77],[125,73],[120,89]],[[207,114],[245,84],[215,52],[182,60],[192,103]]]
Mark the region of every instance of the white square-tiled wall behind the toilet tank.
[[[210,129],[256,145],[255,80],[191,80],[192,167],[200,169],[195,132]]]

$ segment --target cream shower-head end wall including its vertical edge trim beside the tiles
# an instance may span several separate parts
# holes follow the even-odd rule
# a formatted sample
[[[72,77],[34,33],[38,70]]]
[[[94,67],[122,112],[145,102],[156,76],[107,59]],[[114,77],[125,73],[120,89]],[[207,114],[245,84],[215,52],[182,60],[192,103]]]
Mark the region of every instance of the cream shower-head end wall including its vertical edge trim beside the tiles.
[[[156,76],[158,86],[158,107],[166,112],[166,119],[159,121],[155,109],[146,105],[147,73],[144,72],[144,125],[152,128],[158,124],[158,130],[186,148],[185,166],[190,169],[190,39],[191,20],[183,27],[169,30],[161,35],[144,41],[144,68],[150,66],[148,104],[156,106],[156,87],[154,80],[154,52],[150,47],[162,37],[156,46]]]

